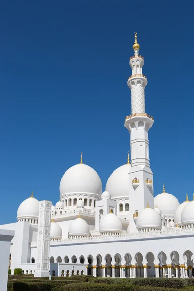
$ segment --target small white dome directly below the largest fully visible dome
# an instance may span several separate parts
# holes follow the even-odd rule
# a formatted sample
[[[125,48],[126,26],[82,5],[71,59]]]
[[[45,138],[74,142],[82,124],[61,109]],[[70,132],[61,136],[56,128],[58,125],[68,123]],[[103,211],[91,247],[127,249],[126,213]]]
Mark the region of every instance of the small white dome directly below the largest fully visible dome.
[[[88,236],[90,233],[87,222],[81,217],[76,218],[69,226],[69,236]]]

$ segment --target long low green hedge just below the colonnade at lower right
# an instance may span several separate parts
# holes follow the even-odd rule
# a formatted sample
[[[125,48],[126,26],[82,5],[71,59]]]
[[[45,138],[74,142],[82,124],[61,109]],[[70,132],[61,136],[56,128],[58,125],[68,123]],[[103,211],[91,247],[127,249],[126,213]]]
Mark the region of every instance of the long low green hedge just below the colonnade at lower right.
[[[106,283],[106,284],[123,284],[123,285],[139,285],[139,286],[153,286],[153,287],[168,287],[168,288],[184,288],[188,282],[194,280],[176,279],[176,278],[97,278],[90,279],[92,283]],[[194,285],[190,282],[189,285]]]

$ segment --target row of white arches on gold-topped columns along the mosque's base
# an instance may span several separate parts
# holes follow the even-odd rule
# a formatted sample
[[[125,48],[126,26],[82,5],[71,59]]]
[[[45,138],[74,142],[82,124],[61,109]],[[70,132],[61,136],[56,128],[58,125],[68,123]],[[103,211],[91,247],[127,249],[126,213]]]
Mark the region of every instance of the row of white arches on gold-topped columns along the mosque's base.
[[[104,257],[101,254],[97,256],[84,255],[77,258],[73,255],[70,259],[65,256],[64,259],[58,256],[56,259],[50,258],[50,262],[59,262],[74,264],[87,264],[87,275],[95,277],[120,277],[120,278],[136,278],[136,277],[176,277],[186,278],[194,276],[193,253],[190,250],[179,254],[177,251],[172,251],[170,255],[166,255],[161,251],[158,254],[148,252],[143,256],[140,252],[132,256],[126,253],[123,257],[117,253],[115,255],[106,254]],[[74,275],[69,272],[68,275]],[[80,272],[82,273],[82,272]],[[79,275],[81,275],[79,273]],[[62,276],[64,273],[62,274]],[[84,274],[86,275],[86,274]]]

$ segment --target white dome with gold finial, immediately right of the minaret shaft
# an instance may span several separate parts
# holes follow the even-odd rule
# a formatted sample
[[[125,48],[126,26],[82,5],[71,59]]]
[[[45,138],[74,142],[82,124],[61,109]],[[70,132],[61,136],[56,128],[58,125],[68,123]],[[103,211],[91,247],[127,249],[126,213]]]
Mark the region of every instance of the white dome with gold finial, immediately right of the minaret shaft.
[[[154,207],[156,207],[156,205],[160,208],[164,215],[167,216],[174,215],[180,203],[175,196],[163,192],[154,198]]]

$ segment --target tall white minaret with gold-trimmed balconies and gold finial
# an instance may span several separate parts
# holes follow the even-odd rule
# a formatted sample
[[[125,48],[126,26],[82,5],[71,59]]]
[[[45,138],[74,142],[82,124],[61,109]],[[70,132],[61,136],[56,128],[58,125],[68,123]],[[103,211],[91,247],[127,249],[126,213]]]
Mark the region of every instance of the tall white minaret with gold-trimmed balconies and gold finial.
[[[128,86],[131,89],[131,111],[132,114],[125,119],[125,127],[130,133],[131,147],[131,169],[129,172],[129,221],[130,231],[136,231],[137,213],[141,212],[149,203],[154,208],[153,197],[153,173],[149,164],[149,140],[148,131],[154,119],[145,111],[145,87],[147,78],[142,74],[144,58],[139,55],[140,45],[135,42],[133,45],[134,56],[130,58],[132,75],[128,79]],[[138,212],[137,212],[138,210]],[[135,215],[133,216],[133,214]]]

